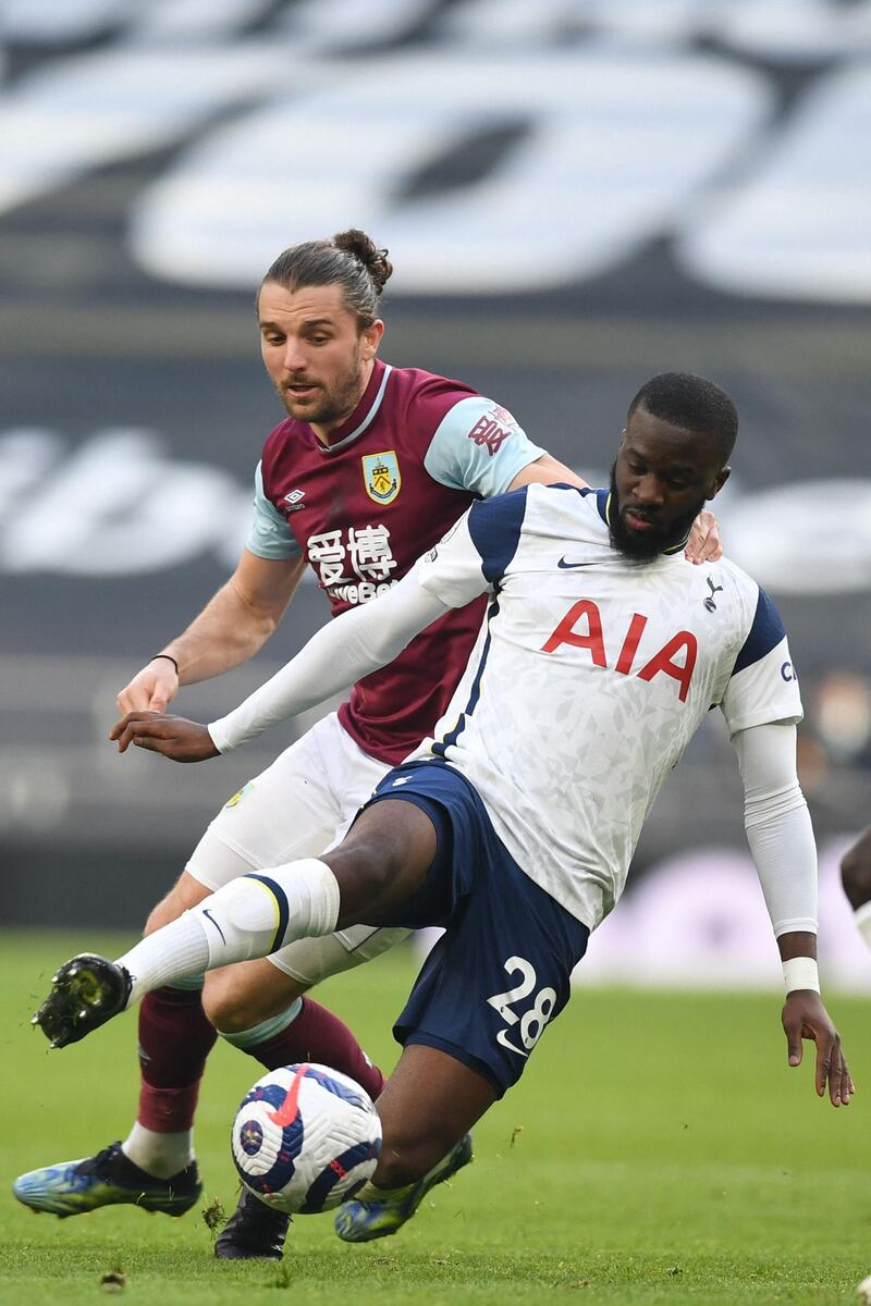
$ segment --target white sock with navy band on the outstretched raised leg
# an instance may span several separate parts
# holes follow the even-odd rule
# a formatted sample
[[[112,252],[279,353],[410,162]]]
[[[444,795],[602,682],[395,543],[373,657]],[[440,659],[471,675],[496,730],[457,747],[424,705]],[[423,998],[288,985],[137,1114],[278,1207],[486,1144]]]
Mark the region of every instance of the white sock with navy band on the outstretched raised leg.
[[[316,857],[240,875],[118,959],[133,980],[127,1006],[182,976],[332,934],[338,906],[336,876]]]

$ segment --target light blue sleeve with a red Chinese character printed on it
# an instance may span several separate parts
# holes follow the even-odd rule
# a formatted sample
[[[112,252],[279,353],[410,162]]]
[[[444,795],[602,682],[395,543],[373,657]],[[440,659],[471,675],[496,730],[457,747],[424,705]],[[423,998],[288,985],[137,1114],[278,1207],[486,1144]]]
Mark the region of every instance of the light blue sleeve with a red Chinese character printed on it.
[[[441,418],[423,466],[439,485],[490,499],[545,454],[511,413],[482,394],[461,398]]]

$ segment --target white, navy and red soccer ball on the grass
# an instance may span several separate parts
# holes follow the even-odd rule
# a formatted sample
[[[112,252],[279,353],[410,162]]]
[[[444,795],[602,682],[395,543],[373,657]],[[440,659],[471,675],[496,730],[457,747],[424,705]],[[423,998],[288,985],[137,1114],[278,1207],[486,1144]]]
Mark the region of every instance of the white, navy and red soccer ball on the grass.
[[[338,1207],[373,1174],[381,1122],[368,1093],[329,1066],[282,1066],[259,1079],[232,1122],[242,1182],[291,1215]]]

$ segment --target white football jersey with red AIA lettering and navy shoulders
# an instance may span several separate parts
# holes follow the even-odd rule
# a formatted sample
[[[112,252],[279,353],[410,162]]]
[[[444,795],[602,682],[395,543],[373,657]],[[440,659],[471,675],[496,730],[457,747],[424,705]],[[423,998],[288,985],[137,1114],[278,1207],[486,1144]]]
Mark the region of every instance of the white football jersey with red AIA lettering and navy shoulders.
[[[417,564],[444,603],[486,585],[492,599],[448,712],[413,756],[461,771],[518,866],[590,929],[709,708],[730,734],[802,718],[764,590],[682,550],[628,562],[610,543],[607,502],[530,485],[474,504]]]

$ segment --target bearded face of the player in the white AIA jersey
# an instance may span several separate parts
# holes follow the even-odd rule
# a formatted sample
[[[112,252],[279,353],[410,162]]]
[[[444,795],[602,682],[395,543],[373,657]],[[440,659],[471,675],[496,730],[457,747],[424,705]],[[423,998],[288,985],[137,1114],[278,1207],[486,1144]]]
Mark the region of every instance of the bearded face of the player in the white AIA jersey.
[[[611,469],[614,547],[642,560],[679,545],[727,477],[713,436],[684,431],[637,407]]]

